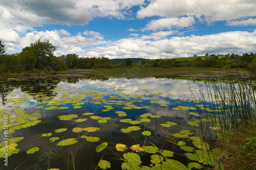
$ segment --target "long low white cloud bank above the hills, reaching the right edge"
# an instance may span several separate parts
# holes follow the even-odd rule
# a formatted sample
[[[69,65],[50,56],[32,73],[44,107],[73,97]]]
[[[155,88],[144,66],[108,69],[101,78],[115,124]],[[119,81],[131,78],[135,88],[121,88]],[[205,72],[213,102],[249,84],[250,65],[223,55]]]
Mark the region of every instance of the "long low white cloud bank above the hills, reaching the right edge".
[[[107,47],[97,47],[86,51],[85,56],[105,56],[113,58],[142,57],[150,59],[191,57],[206,53],[222,54],[253,52],[256,45],[254,32],[223,32],[204,36],[172,37],[157,41],[142,38],[125,38]]]

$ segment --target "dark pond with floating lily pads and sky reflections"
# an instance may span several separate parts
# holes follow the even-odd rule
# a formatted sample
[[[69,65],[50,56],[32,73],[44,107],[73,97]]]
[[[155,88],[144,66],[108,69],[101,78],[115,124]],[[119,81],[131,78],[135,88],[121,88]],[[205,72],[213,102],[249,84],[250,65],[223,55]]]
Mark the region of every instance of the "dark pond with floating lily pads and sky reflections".
[[[188,154],[202,149],[196,120],[208,88],[164,78],[2,78],[0,169],[4,160],[7,169],[149,169],[165,158],[199,166]]]

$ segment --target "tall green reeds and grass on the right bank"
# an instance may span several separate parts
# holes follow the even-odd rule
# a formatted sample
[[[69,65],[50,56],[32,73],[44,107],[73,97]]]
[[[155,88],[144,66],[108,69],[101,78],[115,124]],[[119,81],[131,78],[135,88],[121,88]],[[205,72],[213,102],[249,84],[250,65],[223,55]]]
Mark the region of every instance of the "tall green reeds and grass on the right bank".
[[[256,100],[252,77],[237,73],[223,81],[199,85],[201,137],[222,149],[219,168],[256,169]],[[194,96],[196,98],[196,96]],[[248,154],[250,153],[250,154]]]

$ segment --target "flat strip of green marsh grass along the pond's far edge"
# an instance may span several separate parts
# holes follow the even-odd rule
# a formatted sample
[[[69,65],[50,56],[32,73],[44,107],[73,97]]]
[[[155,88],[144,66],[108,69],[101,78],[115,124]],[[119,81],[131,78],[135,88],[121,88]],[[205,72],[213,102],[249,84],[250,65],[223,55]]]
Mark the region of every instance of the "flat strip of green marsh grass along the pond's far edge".
[[[230,72],[237,70],[230,69]],[[174,67],[174,68],[114,68],[114,69],[95,69],[90,71],[91,76],[97,77],[190,77],[190,78],[205,78],[205,77],[223,77],[225,70],[220,68],[195,68],[195,67]],[[246,72],[240,70],[240,72]]]

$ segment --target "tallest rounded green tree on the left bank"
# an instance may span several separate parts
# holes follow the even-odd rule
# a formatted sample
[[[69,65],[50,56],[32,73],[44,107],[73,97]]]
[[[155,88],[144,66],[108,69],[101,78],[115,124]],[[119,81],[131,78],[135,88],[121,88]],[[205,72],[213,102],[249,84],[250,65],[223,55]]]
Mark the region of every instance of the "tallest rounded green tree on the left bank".
[[[54,56],[53,53],[57,50],[57,47],[48,40],[41,42],[41,40],[38,39],[37,41],[30,43],[30,46],[23,48],[22,51],[24,52],[30,50],[32,50],[36,55],[36,68],[42,69],[50,65],[51,58]]]

